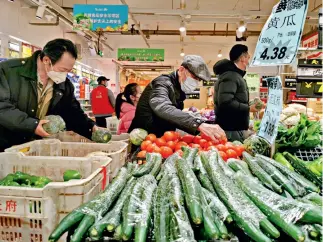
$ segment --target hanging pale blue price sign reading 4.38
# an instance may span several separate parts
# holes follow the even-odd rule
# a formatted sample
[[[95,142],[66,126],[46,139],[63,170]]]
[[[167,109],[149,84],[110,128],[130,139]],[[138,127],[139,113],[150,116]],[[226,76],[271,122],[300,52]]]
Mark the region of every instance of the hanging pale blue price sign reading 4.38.
[[[281,0],[263,27],[251,66],[291,64],[302,38],[308,0]]]

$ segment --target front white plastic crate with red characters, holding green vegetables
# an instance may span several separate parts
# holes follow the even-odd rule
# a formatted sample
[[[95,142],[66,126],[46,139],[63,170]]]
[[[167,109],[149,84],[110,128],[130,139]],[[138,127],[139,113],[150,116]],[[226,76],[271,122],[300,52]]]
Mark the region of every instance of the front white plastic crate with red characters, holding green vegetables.
[[[0,179],[22,171],[46,176],[53,182],[44,188],[0,186],[0,241],[47,241],[60,219],[102,191],[102,171],[108,176],[110,164],[111,158],[105,156],[37,157],[20,152],[1,153]],[[79,171],[84,179],[63,182],[63,173],[68,169]]]

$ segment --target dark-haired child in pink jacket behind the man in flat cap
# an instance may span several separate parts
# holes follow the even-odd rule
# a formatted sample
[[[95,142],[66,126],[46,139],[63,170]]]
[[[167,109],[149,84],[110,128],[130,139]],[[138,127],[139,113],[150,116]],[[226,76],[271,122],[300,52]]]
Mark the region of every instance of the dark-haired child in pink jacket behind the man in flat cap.
[[[120,120],[118,134],[127,133],[133,118],[136,106],[141,96],[141,88],[137,83],[128,84],[124,92],[118,94],[115,112]]]

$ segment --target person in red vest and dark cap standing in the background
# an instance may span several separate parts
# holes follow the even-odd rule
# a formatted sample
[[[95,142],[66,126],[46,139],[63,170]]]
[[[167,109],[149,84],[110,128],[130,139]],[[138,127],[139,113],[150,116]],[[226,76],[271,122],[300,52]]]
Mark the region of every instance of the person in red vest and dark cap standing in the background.
[[[99,86],[91,92],[92,112],[96,124],[99,127],[106,128],[106,118],[111,117],[114,113],[115,98],[110,89],[107,88],[107,82],[110,79],[100,76],[98,78]]]

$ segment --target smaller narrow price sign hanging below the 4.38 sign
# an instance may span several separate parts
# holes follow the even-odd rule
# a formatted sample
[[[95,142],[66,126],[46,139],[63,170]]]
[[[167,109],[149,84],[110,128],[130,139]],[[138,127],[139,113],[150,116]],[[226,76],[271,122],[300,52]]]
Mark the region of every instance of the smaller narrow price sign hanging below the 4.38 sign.
[[[264,117],[261,120],[258,136],[274,144],[283,108],[283,89],[279,76],[267,78],[268,102]]]

